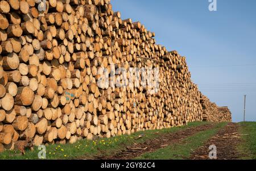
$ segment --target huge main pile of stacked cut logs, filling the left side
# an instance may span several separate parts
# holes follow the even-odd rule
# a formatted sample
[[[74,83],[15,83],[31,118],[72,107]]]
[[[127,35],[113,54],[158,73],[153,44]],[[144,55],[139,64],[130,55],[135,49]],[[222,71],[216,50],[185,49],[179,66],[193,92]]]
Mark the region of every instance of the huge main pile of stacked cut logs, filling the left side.
[[[0,149],[203,120],[185,57],[157,45],[141,23],[122,20],[110,0],[49,0],[40,9],[38,0],[0,1]],[[158,69],[159,87],[134,81],[136,67]],[[104,68],[116,69],[114,77],[102,77]],[[122,86],[106,84],[113,80]]]

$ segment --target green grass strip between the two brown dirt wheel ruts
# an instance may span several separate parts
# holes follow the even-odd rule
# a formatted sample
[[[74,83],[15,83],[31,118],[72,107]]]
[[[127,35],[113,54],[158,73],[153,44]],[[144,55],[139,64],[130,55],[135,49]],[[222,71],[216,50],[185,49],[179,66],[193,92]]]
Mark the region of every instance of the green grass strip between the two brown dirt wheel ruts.
[[[227,123],[219,123],[210,130],[200,131],[195,135],[185,138],[179,144],[172,144],[165,148],[160,148],[155,152],[144,153],[141,157],[137,157],[136,159],[189,159],[192,151],[203,145],[210,137],[216,135],[221,128],[226,126],[226,124]]]

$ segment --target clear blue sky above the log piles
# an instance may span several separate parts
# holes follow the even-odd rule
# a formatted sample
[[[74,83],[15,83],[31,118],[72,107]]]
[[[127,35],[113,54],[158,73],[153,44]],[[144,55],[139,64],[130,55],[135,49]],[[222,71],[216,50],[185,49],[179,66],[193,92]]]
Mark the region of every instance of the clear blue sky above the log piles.
[[[192,80],[219,106],[229,106],[233,121],[256,121],[256,1],[112,0],[122,19],[140,21],[168,51],[187,57]]]

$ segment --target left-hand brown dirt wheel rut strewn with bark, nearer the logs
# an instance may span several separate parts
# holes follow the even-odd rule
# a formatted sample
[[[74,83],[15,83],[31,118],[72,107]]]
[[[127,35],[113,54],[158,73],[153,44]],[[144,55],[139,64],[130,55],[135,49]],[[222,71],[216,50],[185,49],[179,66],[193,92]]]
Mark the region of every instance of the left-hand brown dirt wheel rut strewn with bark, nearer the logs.
[[[113,154],[112,156],[96,156],[95,159],[102,160],[127,160],[134,159],[141,156],[145,152],[153,152],[156,149],[166,147],[170,144],[178,143],[184,138],[194,135],[197,132],[208,130],[213,128],[216,124],[205,124],[203,126],[189,127],[183,131],[172,132],[170,134],[164,134],[155,139],[147,140],[145,143],[133,144],[130,147],[126,147],[125,150]]]

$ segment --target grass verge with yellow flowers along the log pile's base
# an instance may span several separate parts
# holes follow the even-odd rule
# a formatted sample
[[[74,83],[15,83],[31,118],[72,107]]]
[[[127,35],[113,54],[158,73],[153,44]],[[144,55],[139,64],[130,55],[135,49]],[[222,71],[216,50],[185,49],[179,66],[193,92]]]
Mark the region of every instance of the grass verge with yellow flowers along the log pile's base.
[[[133,143],[143,143],[148,139],[158,137],[168,132],[176,132],[184,130],[188,127],[201,126],[208,124],[207,122],[193,122],[189,123],[188,126],[174,127],[163,130],[148,130],[144,132],[136,132],[132,135],[115,136],[110,139],[98,139],[94,141],[80,140],[75,144],[65,145],[48,145],[46,147],[46,159],[83,159],[90,158],[93,156],[110,155],[113,152],[125,149],[127,145]],[[144,134],[141,139],[135,140],[135,137]],[[38,159],[38,148],[34,147],[34,151],[26,151],[25,155],[20,155],[18,151],[5,151],[0,153],[0,159]]]

